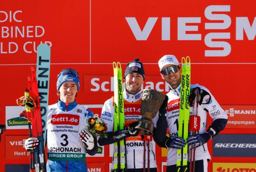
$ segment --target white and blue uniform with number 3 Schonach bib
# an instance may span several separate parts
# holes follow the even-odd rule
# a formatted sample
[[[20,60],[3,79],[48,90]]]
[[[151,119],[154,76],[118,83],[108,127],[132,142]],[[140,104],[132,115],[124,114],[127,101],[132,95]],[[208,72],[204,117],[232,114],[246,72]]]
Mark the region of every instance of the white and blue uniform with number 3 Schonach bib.
[[[59,99],[58,103],[48,106],[47,171],[87,171],[85,148],[79,133],[86,128],[88,116],[92,117],[93,113],[76,101],[66,106]],[[96,138],[94,143],[97,143]],[[86,152],[94,155],[97,144],[92,150],[86,149]]]

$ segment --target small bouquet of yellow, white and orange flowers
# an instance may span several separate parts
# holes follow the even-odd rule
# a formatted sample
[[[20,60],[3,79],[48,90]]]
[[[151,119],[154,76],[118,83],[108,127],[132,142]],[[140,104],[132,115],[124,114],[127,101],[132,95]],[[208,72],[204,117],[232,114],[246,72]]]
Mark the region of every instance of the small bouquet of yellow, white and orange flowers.
[[[87,130],[93,137],[105,137],[107,138],[107,125],[98,116],[93,116],[88,119]]]

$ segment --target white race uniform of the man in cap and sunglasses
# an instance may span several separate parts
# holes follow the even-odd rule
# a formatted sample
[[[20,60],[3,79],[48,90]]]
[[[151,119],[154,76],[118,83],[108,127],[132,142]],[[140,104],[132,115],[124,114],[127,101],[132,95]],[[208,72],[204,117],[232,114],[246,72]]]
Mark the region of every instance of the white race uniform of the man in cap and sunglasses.
[[[191,90],[195,87],[200,87],[201,89],[207,91],[211,96],[211,100],[209,104],[201,104],[198,106],[198,116],[200,116],[199,134],[205,133],[205,130],[207,129],[207,112],[209,112],[210,117],[213,119],[213,122],[210,127],[214,128],[214,130],[216,130],[216,134],[218,134],[218,132],[220,132],[225,128],[228,116],[226,112],[220,107],[218,102],[215,100],[215,98],[212,96],[212,94],[209,92],[207,88],[200,86],[198,84],[195,84],[195,85],[191,85]],[[180,89],[181,89],[181,85],[176,89],[171,89],[170,92],[167,94],[169,99],[168,99],[168,105],[167,105],[166,120],[169,127],[168,133],[171,139],[178,137]],[[207,99],[203,100],[202,103],[206,103],[206,102],[207,102]],[[193,107],[190,107],[190,115],[193,115]],[[179,125],[182,125],[182,124],[179,124]],[[177,159],[177,149],[168,148],[167,169],[168,169],[168,166],[176,164],[176,159]],[[206,169],[207,171],[207,160],[208,161],[211,160],[211,156],[207,148],[207,143],[205,143],[202,146],[196,148],[195,162],[203,163],[203,166],[204,166],[203,168]]]

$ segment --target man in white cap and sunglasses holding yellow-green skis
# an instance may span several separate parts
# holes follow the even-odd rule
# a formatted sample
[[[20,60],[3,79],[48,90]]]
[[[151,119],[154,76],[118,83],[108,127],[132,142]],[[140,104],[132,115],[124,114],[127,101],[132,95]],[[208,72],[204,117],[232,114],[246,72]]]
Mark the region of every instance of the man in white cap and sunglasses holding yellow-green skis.
[[[211,160],[207,142],[225,128],[228,116],[207,88],[198,84],[191,85],[191,90],[198,87],[202,92],[208,93],[211,96],[211,100],[207,102],[207,96],[205,96],[205,99],[202,98],[199,103],[198,116],[200,116],[201,119],[199,134],[188,137],[187,141],[178,137],[178,126],[182,125],[178,122],[180,111],[181,68],[174,55],[163,56],[158,61],[158,65],[162,78],[165,79],[170,86],[170,92],[167,94],[169,99],[166,115],[170,137],[166,137],[165,141],[162,143],[157,143],[161,147],[168,148],[166,171],[172,172],[176,170],[177,149],[185,147],[185,144],[188,144],[188,147],[195,144],[196,146],[193,147],[196,148],[195,171],[207,172],[207,161]],[[200,96],[202,95],[200,94]],[[193,107],[190,108],[190,115],[193,115],[192,111]],[[210,117],[213,119],[209,127],[206,125],[207,112],[209,112]]]

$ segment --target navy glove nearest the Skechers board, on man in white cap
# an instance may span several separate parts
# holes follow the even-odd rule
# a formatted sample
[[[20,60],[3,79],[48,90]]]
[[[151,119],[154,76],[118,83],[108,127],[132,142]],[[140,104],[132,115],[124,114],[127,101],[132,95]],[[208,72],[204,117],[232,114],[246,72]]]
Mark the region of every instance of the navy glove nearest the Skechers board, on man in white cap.
[[[193,146],[193,149],[195,149],[201,146],[202,144],[207,143],[209,140],[211,140],[211,136],[207,132],[205,132],[203,134],[188,137],[187,143],[188,146],[195,144],[195,146]]]

